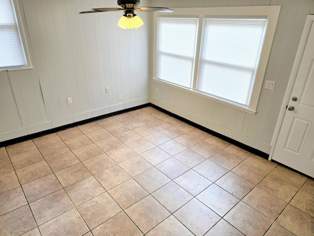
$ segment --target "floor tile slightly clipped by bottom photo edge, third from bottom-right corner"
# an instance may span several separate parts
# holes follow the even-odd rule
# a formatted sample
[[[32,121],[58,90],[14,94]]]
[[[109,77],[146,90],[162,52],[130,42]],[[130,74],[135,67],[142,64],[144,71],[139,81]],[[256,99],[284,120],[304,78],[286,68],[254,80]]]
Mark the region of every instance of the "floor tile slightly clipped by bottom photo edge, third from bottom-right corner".
[[[263,235],[273,223],[272,220],[243,202],[239,202],[232,208],[224,219],[244,235],[252,236]]]

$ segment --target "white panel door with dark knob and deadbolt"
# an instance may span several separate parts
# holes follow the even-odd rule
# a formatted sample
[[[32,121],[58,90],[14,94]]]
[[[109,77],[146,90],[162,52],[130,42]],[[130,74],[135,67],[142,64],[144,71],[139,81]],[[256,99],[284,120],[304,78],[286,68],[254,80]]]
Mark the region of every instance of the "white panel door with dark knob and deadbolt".
[[[314,21],[272,159],[314,177]],[[295,62],[298,63],[298,62]]]

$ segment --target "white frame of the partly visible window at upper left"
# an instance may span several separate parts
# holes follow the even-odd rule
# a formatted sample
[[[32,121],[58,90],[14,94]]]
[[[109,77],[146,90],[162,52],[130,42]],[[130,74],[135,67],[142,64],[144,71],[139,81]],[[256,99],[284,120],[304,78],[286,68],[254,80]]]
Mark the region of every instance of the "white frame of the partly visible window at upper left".
[[[25,65],[21,66],[6,66],[6,67],[0,67],[0,72],[1,71],[14,71],[14,70],[24,70],[24,69],[32,69],[32,63],[30,59],[30,54],[27,46],[27,41],[26,41],[26,34],[23,26],[23,21],[22,21],[22,16],[21,16],[21,11],[19,7],[19,1],[18,0],[10,0],[12,3],[13,7],[13,12],[14,12],[14,18],[16,20],[16,25],[18,29],[18,34],[21,40],[21,47],[24,52],[24,58],[25,58]]]

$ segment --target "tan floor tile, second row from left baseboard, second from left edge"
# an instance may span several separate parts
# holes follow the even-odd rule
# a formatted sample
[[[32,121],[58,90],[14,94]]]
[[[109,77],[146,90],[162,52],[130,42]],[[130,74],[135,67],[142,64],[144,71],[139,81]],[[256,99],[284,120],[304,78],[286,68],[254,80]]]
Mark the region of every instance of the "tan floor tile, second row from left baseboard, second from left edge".
[[[38,149],[15,155],[10,159],[15,170],[44,160]]]

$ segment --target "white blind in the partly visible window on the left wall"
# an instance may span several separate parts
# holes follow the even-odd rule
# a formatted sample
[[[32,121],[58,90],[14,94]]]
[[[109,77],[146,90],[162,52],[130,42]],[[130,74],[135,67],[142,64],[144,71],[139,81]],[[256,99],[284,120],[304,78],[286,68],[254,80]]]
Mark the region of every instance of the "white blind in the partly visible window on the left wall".
[[[13,2],[0,0],[0,70],[26,67]]]

